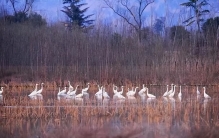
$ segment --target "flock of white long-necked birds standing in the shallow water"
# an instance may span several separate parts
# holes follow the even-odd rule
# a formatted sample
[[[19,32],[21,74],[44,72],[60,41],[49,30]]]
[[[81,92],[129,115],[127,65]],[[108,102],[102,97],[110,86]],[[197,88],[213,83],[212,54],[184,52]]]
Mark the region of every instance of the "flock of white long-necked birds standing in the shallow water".
[[[69,83],[68,91],[67,91],[67,87],[64,87],[63,90],[60,90],[60,87],[59,87],[59,91],[58,91],[58,94],[57,94],[58,96],[72,96],[74,98],[83,98],[83,96],[85,96],[85,95],[89,96],[88,90],[90,88],[90,83],[88,83],[87,87],[83,88],[81,90],[81,93],[79,93],[79,94],[77,94],[77,90],[78,90],[79,85],[77,85],[74,89],[73,86],[70,84],[70,81],[68,81],[68,83]],[[41,89],[40,90],[37,90],[38,85],[39,84],[36,84],[35,89],[28,96],[34,96],[34,95],[38,95],[38,94],[42,93],[44,83],[41,83]],[[168,88],[169,88],[169,85],[167,85],[167,89],[166,89],[166,92],[164,92],[163,97],[173,98],[175,96],[175,93],[176,93],[176,85],[171,84],[171,89],[169,90]],[[127,98],[130,98],[130,97],[134,98],[135,94],[137,93],[137,89],[139,89],[139,87],[135,87],[135,88],[132,87],[132,89],[128,88],[128,91],[126,92]],[[2,87],[2,91],[0,91],[0,93],[2,93],[2,92],[3,92],[3,87]],[[126,99],[126,97],[123,95],[124,86],[121,86],[121,91],[118,91],[118,86],[113,84],[113,93],[114,93],[113,99],[114,98]],[[211,98],[208,94],[206,94],[206,88],[205,87],[203,87],[203,93],[204,93],[204,98],[206,98],[206,99]],[[197,94],[197,97],[200,97],[200,95],[201,95],[200,91],[198,89],[198,86],[197,86],[196,94]],[[149,93],[149,89],[147,87],[145,87],[144,84],[143,84],[142,89],[140,89],[138,91],[138,95],[139,96],[147,96],[148,98],[152,98],[152,99],[156,98],[155,95]],[[105,87],[104,86],[100,87],[99,85],[98,85],[98,91],[95,93],[94,96],[97,99],[102,99],[102,98],[110,99],[110,96],[109,96],[108,92],[106,92]],[[182,97],[181,86],[179,86],[178,97],[179,98]]]

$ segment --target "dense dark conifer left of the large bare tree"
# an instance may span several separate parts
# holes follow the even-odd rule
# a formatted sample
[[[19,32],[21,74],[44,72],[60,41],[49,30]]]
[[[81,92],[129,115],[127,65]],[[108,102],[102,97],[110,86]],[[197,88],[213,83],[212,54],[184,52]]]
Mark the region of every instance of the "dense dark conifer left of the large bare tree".
[[[69,24],[71,26],[79,26],[81,28],[90,27],[93,24],[94,20],[90,20],[89,18],[93,16],[87,15],[85,16],[85,12],[88,10],[89,7],[85,9],[81,9],[82,6],[87,5],[87,3],[80,3],[81,0],[63,0],[63,4],[67,5],[64,6],[64,12],[67,17],[69,18]]]

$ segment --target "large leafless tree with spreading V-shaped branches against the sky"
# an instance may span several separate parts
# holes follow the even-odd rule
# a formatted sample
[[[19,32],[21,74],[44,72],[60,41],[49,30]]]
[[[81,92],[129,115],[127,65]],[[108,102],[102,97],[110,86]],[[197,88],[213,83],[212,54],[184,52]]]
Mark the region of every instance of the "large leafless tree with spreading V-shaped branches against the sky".
[[[104,0],[104,2],[114,13],[135,29],[139,41],[141,41],[144,11],[154,0]]]

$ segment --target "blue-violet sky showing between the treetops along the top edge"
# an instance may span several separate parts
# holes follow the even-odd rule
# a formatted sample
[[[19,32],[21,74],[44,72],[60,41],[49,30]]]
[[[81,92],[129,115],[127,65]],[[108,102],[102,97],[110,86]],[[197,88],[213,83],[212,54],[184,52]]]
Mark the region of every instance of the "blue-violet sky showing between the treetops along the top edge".
[[[2,1],[2,0],[1,0]],[[22,1],[22,0],[21,0]],[[65,21],[66,17],[61,10],[63,9],[63,0],[35,0],[32,11],[40,13],[48,22]],[[137,0],[131,0],[137,1]],[[155,0],[153,4],[148,6],[145,10],[145,24],[149,25],[153,19],[168,15],[169,24],[178,24],[186,18],[185,11],[188,10],[182,6],[181,3],[188,0]],[[83,0],[89,7],[87,14],[94,14],[92,17],[95,20],[112,21],[119,19],[119,17],[110,10],[103,0]],[[1,2],[0,2],[1,3]],[[219,0],[209,0],[211,13],[209,17],[219,16]],[[10,8],[11,6],[8,5]],[[187,12],[188,13],[188,12]],[[182,18],[182,19],[181,19]]]

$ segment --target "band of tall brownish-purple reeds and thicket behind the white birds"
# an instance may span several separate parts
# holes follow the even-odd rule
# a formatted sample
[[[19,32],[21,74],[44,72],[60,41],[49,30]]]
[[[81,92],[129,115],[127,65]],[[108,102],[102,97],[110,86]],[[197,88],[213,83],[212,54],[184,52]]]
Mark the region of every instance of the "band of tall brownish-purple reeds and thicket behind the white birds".
[[[148,32],[142,43],[134,33],[118,35],[109,25],[88,33],[54,24],[0,24],[0,81],[91,81],[136,83],[218,83],[216,44],[199,46]],[[211,39],[212,38],[212,39]]]

